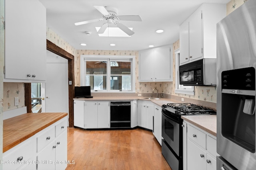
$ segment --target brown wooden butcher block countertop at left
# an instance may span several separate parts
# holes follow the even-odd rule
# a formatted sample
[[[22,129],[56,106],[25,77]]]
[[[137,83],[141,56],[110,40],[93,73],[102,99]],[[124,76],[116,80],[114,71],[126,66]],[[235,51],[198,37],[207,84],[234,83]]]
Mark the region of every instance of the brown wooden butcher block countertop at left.
[[[25,113],[4,120],[3,152],[32,137],[68,113]]]

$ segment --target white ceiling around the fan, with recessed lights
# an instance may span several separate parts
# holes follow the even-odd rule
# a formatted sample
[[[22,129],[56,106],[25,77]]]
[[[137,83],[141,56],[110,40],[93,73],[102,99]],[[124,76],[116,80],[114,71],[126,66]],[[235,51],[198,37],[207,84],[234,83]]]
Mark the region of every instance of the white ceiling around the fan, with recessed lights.
[[[46,7],[47,26],[72,45],[84,50],[131,50],[148,49],[172,44],[179,39],[179,26],[202,3],[227,4],[230,0],[40,0]],[[98,21],[84,25],[75,22],[102,18],[94,8],[113,6],[118,15],[139,15],[140,21],[121,21],[127,27],[133,27],[131,37],[99,37],[95,27],[105,22]],[[114,27],[114,24],[111,26]],[[164,29],[164,33],[156,33]],[[91,35],[85,35],[90,31]],[[81,46],[80,43],[86,43]],[[112,47],[109,44],[116,44]]]

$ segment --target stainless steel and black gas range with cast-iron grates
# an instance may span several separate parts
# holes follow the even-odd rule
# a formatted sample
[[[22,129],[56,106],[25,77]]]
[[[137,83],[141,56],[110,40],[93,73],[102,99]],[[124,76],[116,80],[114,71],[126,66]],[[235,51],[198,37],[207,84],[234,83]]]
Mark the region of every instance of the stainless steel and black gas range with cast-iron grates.
[[[216,115],[216,111],[190,103],[162,105],[162,154],[172,170],[183,170],[181,115]]]

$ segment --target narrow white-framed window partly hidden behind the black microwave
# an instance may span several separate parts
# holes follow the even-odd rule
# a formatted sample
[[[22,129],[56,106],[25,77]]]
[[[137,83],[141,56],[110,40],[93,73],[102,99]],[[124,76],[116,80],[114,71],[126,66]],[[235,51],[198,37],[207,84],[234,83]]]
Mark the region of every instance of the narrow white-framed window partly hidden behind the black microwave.
[[[175,93],[181,93],[181,94],[188,94],[188,95],[195,95],[194,86],[183,86],[180,85],[180,75],[179,75],[179,66],[180,66],[180,49],[177,49],[175,51]]]

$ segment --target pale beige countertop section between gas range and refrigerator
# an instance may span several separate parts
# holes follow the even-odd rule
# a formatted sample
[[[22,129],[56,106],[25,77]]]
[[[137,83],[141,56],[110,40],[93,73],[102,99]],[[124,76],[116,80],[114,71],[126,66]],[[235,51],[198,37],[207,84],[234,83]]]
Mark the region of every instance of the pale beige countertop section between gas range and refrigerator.
[[[217,133],[216,115],[187,115],[187,116],[181,116],[181,118],[199,127],[200,129],[216,136],[216,133]]]

